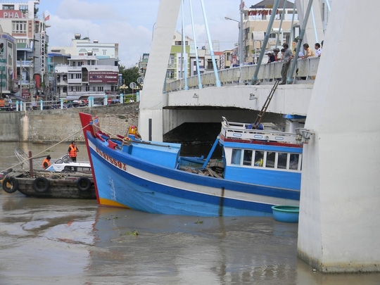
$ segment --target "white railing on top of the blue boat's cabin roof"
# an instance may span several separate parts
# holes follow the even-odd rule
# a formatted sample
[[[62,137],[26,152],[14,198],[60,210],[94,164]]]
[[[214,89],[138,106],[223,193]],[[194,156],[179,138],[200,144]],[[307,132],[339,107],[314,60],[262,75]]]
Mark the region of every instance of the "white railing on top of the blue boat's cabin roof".
[[[277,141],[298,144],[297,134],[274,129],[252,129],[251,123],[222,122],[221,134],[226,139]]]

